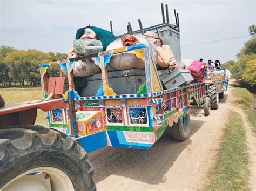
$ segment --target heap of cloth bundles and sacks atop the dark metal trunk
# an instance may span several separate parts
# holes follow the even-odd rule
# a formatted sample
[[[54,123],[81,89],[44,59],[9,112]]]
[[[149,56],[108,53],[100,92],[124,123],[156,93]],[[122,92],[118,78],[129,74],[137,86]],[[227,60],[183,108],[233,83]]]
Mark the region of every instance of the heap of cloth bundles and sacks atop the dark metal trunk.
[[[90,53],[105,50],[113,50],[124,46],[145,44],[149,47],[153,63],[161,68],[172,68],[176,64],[173,52],[169,45],[163,45],[163,40],[154,32],[146,32],[145,35],[124,35],[122,39],[116,39],[113,33],[97,28],[86,26],[80,28],[76,33],[76,40],[71,46],[68,58],[74,58]],[[96,59],[79,60],[73,68],[74,77],[87,77],[100,73]],[[107,71],[144,69],[145,63],[132,51],[113,54]]]

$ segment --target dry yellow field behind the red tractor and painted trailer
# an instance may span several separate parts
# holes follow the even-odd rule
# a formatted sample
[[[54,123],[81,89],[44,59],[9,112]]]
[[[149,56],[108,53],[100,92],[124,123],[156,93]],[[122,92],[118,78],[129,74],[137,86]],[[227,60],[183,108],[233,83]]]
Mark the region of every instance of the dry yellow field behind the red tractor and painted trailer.
[[[16,87],[16,88],[1,88],[0,94],[2,95],[5,104],[15,104],[22,101],[41,100],[43,99],[42,89],[39,87]],[[44,119],[46,112],[37,110],[36,125],[48,126],[48,122]]]

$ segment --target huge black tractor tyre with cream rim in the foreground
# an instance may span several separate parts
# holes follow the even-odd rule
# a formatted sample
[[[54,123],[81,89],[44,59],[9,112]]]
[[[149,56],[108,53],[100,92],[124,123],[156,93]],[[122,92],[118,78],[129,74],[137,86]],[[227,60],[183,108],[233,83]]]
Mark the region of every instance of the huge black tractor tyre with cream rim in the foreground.
[[[43,126],[0,130],[0,190],[96,190],[84,149]]]

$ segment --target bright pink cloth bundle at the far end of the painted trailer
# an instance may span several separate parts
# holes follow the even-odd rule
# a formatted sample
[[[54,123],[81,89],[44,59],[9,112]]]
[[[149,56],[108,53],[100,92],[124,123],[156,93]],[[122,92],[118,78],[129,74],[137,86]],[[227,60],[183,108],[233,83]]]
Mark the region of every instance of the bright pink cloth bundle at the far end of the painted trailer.
[[[190,70],[190,74],[194,80],[198,83],[205,80],[206,76],[206,64],[200,61],[194,60],[187,68]]]

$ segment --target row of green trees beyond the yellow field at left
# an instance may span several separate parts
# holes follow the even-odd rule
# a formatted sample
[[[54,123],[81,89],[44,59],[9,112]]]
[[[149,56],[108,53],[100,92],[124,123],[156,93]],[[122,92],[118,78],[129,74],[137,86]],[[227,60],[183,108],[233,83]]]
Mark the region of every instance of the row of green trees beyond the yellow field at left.
[[[0,87],[39,85],[39,66],[42,63],[66,59],[67,56],[65,53],[45,53],[35,49],[18,50],[2,45],[0,49]]]

